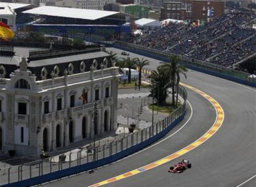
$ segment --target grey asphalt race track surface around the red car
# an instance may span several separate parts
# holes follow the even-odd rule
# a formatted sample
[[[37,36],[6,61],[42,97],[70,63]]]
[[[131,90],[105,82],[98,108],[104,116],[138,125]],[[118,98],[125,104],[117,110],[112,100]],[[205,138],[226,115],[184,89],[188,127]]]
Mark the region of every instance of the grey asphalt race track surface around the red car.
[[[121,54],[121,50],[111,50]],[[130,57],[141,56],[130,54]],[[149,68],[155,69],[159,65],[158,60],[146,59],[151,62]],[[189,71],[187,77],[182,78],[182,82],[202,90],[222,106],[224,122],[218,132],[174,161],[105,186],[256,186],[256,89],[196,71]],[[93,174],[86,172],[45,186],[93,185],[150,164],[197,140],[215,122],[215,109],[202,96],[189,89],[187,91],[193,114],[184,128],[175,135],[134,156],[97,169]],[[174,131],[187,121],[188,116]],[[168,173],[169,166],[181,159],[189,159],[192,169],[180,174]]]

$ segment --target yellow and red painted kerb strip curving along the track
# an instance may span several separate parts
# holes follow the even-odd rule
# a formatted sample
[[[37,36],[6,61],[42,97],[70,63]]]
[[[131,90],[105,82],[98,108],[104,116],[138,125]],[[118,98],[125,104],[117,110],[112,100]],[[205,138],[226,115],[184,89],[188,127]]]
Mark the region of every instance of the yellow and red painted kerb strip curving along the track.
[[[213,134],[215,134],[217,132],[218,129],[220,129],[220,127],[224,121],[224,111],[221,108],[220,104],[214,98],[212,98],[210,95],[205,94],[204,92],[202,92],[201,90],[198,90],[195,87],[189,86],[184,83],[181,83],[181,86],[184,86],[188,89],[193,90],[194,92],[197,92],[197,94],[202,95],[204,98],[206,98],[208,101],[210,101],[210,103],[214,106],[215,111],[216,111],[216,120],[215,120],[215,123],[212,125],[211,129],[209,129],[208,132],[205,133],[198,140],[196,140],[193,143],[191,143],[190,145],[186,146],[186,148],[183,148],[183,149],[177,151],[176,153],[170,154],[158,161],[152,162],[151,164],[144,165],[143,167],[139,167],[138,169],[123,173],[122,175],[118,175],[116,177],[109,178],[108,180],[101,181],[100,183],[96,183],[89,187],[96,187],[96,186],[106,185],[108,183],[113,183],[114,181],[122,180],[122,179],[130,177],[132,175],[137,175],[141,172],[145,172],[147,170],[158,167],[159,165],[166,164],[167,162],[172,161],[173,159],[176,159],[177,157],[180,157],[183,154],[186,154],[187,152],[191,151],[192,149],[197,148],[197,146],[199,146],[203,142],[207,141]]]

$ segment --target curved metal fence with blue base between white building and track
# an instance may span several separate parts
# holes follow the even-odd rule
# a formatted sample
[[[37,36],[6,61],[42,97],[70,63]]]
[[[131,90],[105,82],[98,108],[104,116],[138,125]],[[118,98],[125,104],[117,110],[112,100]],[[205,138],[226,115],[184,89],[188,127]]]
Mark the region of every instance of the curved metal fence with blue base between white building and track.
[[[65,156],[62,154],[61,156],[41,159],[29,164],[3,168],[0,170],[0,185],[11,185],[11,183],[41,177],[48,173],[86,165],[91,162],[100,162],[104,158],[114,157],[117,153],[123,153],[127,149],[136,147],[139,144],[141,146],[144,142],[144,146],[147,146],[148,140],[156,140],[156,137],[160,138],[161,135],[166,133],[166,130],[171,129],[170,127],[177,122],[177,119],[181,119],[186,113],[187,92],[183,87],[179,87],[179,95],[183,98],[184,103],[168,117],[165,117],[156,124],[130,133],[127,137],[121,137],[118,140],[97,145],[95,148],[87,146],[77,149],[75,152],[65,153]]]

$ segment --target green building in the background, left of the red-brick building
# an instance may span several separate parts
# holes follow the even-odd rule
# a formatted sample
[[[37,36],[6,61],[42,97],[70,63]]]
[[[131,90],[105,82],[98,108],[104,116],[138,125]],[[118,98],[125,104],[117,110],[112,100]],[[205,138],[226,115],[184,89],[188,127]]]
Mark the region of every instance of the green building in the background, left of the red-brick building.
[[[148,7],[137,4],[122,4],[120,6],[120,12],[133,15],[135,18],[148,18],[148,11]]]

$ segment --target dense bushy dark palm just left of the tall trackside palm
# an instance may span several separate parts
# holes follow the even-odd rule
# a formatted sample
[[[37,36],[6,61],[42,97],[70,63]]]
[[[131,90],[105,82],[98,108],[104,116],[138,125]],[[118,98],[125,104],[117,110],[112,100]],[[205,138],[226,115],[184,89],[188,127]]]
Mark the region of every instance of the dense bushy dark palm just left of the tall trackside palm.
[[[150,96],[155,98],[159,105],[164,105],[169,94],[169,74],[166,71],[166,68],[158,66],[156,70],[151,71],[148,78],[151,81]]]

